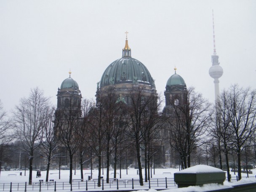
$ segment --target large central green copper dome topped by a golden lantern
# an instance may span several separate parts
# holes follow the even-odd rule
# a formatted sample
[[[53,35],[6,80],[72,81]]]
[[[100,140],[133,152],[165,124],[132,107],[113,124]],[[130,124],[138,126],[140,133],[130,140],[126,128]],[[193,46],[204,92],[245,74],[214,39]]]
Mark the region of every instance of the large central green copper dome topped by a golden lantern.
[[[100,87],[121,83],[138,83],[155,86],[147,67],[137,59],[131,57],[128,40],[125,41],[123,57],[112,62],[104,71]]]

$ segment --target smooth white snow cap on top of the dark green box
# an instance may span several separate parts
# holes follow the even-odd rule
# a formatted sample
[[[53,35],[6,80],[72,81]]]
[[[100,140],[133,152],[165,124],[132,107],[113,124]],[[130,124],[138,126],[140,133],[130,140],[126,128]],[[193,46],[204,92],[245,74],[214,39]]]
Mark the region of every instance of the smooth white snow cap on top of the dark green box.
[[[187,168],[187,169],[183,169],[182,171],[179,171],[178,173],[222,173],[224,171],[222,171],[221,169],[215,168],[215,167],[211,167],[208,165],[195,165],[193,167]]]

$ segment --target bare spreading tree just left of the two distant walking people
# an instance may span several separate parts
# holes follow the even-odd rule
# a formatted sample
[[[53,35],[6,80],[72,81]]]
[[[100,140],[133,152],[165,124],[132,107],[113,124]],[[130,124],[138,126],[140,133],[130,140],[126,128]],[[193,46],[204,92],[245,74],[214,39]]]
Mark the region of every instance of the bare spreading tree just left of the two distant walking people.
[[[16,136],[21,141],[21,150],[29,156],[29,184],[32,184],[32,163],[34,151],[40,143],[49,100],[39,88],[31,89],[28,98],[20,100],[13,112]]]

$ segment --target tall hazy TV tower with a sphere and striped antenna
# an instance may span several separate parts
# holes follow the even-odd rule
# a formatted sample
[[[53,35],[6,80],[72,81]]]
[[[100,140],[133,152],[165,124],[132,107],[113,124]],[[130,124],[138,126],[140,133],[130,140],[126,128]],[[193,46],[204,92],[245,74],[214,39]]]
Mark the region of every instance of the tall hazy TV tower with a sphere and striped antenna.
[[[219,97],[219,78],[223,74],[223,69],[219,66],[219,56],[216,54],[215,34],[214,34],[214,19],[213,19],[213,55],[211,56],[212,66],[209,69],[209,75],[214,79],[215,101]]]

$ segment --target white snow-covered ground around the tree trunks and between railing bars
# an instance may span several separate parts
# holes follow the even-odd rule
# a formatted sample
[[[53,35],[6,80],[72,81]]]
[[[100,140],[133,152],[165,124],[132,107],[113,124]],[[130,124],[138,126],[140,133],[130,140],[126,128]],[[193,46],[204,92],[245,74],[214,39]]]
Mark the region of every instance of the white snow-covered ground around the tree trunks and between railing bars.
[[[153,184],[153,179],[159,179],[159,182],[160,181],[165,181],[165,177],[168,178],[168,179],[173,178],[173,173],[175,173],[177,171],[179,171],[179,169],[177,169],[177,168],[155,169],[155,175],[152,176],[151,188],[157,188],[156,185]],[[242,184],[242,183],[247,183],[247,182],[256,182],[256,176],[255,176],[256,175],[256,170],[252,170],[252,171],[253,171],[253,174],[249,174],[249,178],[245,178],[247,175],[245,173],[242,173],[243,179],[241,181],[238,181],[238,182],[236,181],[237,173],[236,173],[236,175],[234,173],[231,173],[232,174],[232,182],[225,181],[224,185],[206,184],[203,187],[187,187],[187,188],[179,188],[179,189],[177,189],[177,186],[175,186],[175,187],[174,186],[173,187],[168,186],[168,189],[171,189],[170,192],[190,192],[190,191],[200,192],[200,191],[205,191],[205,190],[209,190],[209,189],[215,189],[216,190],[216,189],[221,189],[221,188],[228,188],[228,187],[232,187],[233,185],[236,185],[236,184]],[[22,176],[20,176],[20,172],[22,172]],[[1,171],[0,187],[1,186],[3,187],[2,184],[5,183],[5,190],[7,190],[8,187],[6,187],[6,184],[10,184],[11,182],[13,183],[13,186],[15,186],[15,183],[25,183],[25,182],[28,183],[29,172],[26,171],[26,176],[24,175],[24,172],[25,171]],[[110,171],[110,174],[109,174],[109,178],[111,178],[111,179],[113,179],[113,172],[114,171]],[[50,170],[49,173],[50,173],[49,174],[49,180],[54,179],[54,181],[56,181],[56,182],[64,182],[64,183],[69,181],[69,170],[61,170],[60,179],[59,179],[59,174],[58,174],[59,170]],[[83,170],[84,181],[88,179],[88,176],[90,176],[90,173],[91,173],[91,170]],[[102,174],[101,176],[103,176],[104,180],[106,180],[106,173],[107,173],[106,169],[104,169],[104,174],[102,174],[102,170],[101,170],[101,174]],[[152,173],[153,173],[153,170],[152,170]],[[131,180],[131,179],[134,179],[134,180],[139,179],[139,176],[137,175],[137,169],[128,169],[128,174],[126,174],[126,170],[122,170],[121,179],[120,179],[119,174],[120,173],[119,173],[119,170],[118,170],[117,171],[117,179],[119,179],[120,189],[122,187],[124,187],[124,184],[123,184],[122,180],[125,180],[125,187],[128,187],[128,188],[122,188],[122,189],[129,189],[128,184],[126,184],[126,183],[128,183],[127,181]],[[144,174],[144,170],[143,170],[143,174]],[[45,181],[46,171],[41,171],[41,175],[42,176],[40,178],[36,178],[36,171],[33,171],[32,172],[32,182],[33,183],[38,183],[40,179],[43,179],[43,181]],[[72,179],[80,179],[81,178],[80,170],[76,170],[76,172],[73,170],[72,175],[73,175]],[[98,171],[93,170],[92,179],[97,179],[97,176],[98,176]],[[90,182],[93,183],[93,181],[90,181]],[[79,183],[80,183],[80,186],[82,186],[82,184],[84,184],[84,186],[85,186],[85,182],[79,182]],[[96,183],[97,183],[97,181],[96,181]],[[74,182],[73,191],[85,191],[85,188],[84,189],[76,188],[75,184],[78,184],[78,182]],[[109,188],[109,186],[107,184],[104,183],[104,185],[105,185],[104,190],[106,190],[106,191],[107,190],[113,191],[113,190],[117,189],[116,188],[116,183],[112,184],[111,189]],[[148,182],[144,183],[144,186],[145,186],[144,188],[139,188],[139,189],[149,189]],[[165,186],[165,184],[163,184],[163,186]],[[38,187],[39,187],[39,184],[37,184],[37,185],[35,184],[34,190],[38,191]],[[43,185],[42,187],[44,187],[44,188],[42,188],[42,190],[47,190],[45,185]],[[53,186],[51,185],[51,187],[53,187]],[[134,185],[134,189],[138,189],[137,187],[140,187],[140,186],[138,184]],[[159,187],[157,189],[159,189]],[[160,189],[165,189],[165,187],[160,187]],[[100,188],[96,187],[96,189],[89,189],[88,188],[88,191],[93,191],[93,190],[101,190],[101,187]],[[1,188],[0,188],[0,191],[2,191]],[[53,191],[53,190],[50,189],[49,191]],[[60,190],[57,189],[57,191],[60,191]],[[66,190],[61,190],[61,191],[64,192],[64,191],[70,191],[70,190],[66,189]],[[155,191],[155,189],[150,189],[149,192],[156,192],[156,191]],[[165,190],[165,192],[168,192],[168,190]]]

